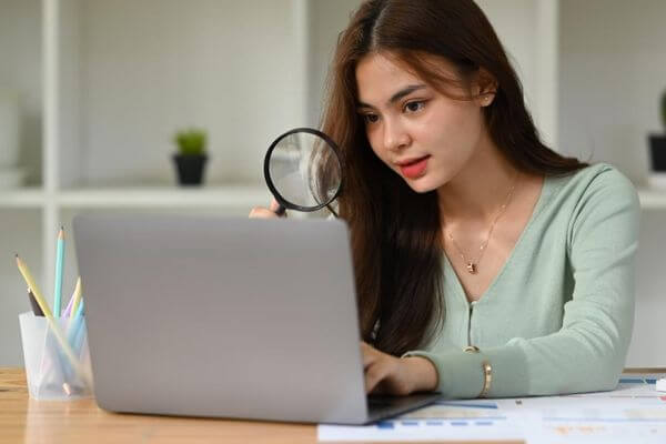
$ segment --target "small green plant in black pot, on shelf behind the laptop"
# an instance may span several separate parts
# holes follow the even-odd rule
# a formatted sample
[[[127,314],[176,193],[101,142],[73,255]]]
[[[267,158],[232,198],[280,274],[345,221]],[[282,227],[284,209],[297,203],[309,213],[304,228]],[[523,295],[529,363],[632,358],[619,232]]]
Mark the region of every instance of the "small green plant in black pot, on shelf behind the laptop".
[[[173,138],[178,152],[173,162],[181,185],[201,185],[208,155],[205,151],[206,133],[204,130],[191,128],[178,131]]]

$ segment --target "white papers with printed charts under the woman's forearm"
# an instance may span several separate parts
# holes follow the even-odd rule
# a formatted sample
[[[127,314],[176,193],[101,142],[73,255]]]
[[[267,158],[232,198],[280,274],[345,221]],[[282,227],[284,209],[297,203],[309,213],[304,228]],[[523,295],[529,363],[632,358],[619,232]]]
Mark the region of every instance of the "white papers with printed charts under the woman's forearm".
[[[366,426],[320,425],[320,441],[666,443],[664,375],[624,375],[615,390],[561,396],[440,401]]]

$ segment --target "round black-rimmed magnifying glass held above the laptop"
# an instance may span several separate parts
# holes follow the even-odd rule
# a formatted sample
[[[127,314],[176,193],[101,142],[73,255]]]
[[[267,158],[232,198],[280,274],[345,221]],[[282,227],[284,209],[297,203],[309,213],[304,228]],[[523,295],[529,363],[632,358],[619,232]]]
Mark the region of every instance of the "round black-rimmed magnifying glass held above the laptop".
[[[287,131],[266,152],[264,179],[280,204],[279,215],[286,209],[321,210],[337,198],[342,188],[340,149],[321,131]]]

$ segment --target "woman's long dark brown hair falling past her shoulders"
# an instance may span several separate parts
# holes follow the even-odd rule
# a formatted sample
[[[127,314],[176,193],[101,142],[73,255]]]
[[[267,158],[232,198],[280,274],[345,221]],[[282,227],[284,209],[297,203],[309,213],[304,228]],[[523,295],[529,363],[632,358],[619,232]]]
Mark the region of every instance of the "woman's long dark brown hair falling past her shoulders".
[[[362,336],[400,355],[432,339],[444,319],[444,250],[436,191],[416,193],[384,165],[356,113],[356,64],[379,51],[438,90],[447,79],[424,56],[453,63],[463,82],[488,73],[496,89],[485,124],[518,170],[562,175],[586,164],[542,143],[502,43],[472,0],[369,0],[359,8],[339,38],[322,128],[344,161],[339,209],[351,230]]]

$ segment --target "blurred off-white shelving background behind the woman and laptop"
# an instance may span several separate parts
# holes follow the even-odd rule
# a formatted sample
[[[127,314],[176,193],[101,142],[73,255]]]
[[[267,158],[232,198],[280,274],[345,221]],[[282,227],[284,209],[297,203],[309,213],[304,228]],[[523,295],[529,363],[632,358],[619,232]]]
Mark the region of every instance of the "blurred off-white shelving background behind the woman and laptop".
[[[648,135],[664,134],[666,1],[478,0],[505,44],[543,139],[610,162],[643,218],[629,366],[666,365],[666,189]],[[0,0],[0,365],[22,365],[29,310],[18,252],[63,300],[80,212],[245,216],[270,195],[270,143],[316,127],[339,32],[360,0]],[[183,129],[205,131],[202,186],[180,186]]]

